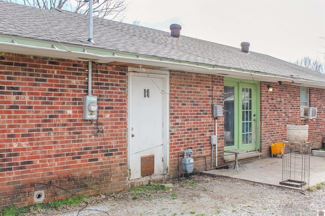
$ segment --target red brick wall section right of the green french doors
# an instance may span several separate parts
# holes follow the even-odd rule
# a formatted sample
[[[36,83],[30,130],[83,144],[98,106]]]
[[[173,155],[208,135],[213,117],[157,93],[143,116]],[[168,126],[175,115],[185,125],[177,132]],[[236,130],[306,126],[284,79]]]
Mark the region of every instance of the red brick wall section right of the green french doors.
[[[317,118],[300,120],[300,86],[272,83],[273,92],[261,83],[261,146],[263,156],[270,156],[270,135],[275,142],[286,140],[286,125],[308,124],[308,140],[312,148],[320,148],[325,138],[325,90],[309,88],[309,106],[317,107]]]

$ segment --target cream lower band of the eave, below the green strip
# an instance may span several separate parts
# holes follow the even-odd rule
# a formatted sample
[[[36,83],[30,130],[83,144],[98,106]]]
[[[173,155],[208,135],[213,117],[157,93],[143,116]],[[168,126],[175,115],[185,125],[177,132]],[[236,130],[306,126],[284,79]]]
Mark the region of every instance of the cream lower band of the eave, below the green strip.
[[[268,73],[261,73],[256,71],[245,71],[240,69],[232,68],[216,68],[211,66],[211,68],[206,66],[200,66],[191,63],[181,63],[179,61],[167,61],[167,60],[153,60],[145,58],[135,58],[135,57],[125,57],[125,56],[107,56],[107,55],[98,55],[87,52],[77,52],[77,51],[67,51],[62,49],[53,49],[53,48],[44,48],[36,47],[30,45],[14,44],[0,42],[1,51],[3,52],[12,52],[26,55],[39,55],[39,56],[48,56],[56,58],[65,58],[73,59],[79,61],[95,61],[99,63],[110,63],[114,61],[125,62],[125,63],[134,63],[140,65],[151,65],[159,66],[168,70],[179,70],[189,73],[200,73],[200,74],[211,74],[211,75],[220,75],[223,77],[231,78],[240,78],[248,79],[255,81],[265,81],[265,82],[292,82],[293,84],[299,83],[306,87],[314,87],[325,89],[324,82],[316,82],[305,79],[297,79],[286,76],[276,76]]]

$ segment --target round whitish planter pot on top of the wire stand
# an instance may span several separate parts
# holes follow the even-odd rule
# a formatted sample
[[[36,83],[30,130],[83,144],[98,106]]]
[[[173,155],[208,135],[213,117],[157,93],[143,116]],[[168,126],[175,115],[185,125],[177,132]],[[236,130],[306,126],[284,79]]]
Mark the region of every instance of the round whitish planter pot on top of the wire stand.
[[[286,138],[289,142],[306,142],[308,139],[308,125],[287,125]]]

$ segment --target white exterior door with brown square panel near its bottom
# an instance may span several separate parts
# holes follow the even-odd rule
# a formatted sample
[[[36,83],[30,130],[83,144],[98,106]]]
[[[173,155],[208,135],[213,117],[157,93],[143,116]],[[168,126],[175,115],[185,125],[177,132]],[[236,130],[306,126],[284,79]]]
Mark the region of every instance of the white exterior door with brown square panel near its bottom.
[[[168,76],[129,75],[130,179],[142,177],[145,167],[151,167],[150,174],[166,174]],[[151,161],[144,160],[146,157],[150,157]]]

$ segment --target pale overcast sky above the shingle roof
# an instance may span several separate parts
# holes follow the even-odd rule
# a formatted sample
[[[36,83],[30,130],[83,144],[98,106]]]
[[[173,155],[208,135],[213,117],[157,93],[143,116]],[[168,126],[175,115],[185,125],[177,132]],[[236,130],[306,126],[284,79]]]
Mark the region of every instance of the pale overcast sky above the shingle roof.
[[[123,22],[250,50],[285,61],[324,62],[325,0],[125,0]]]

